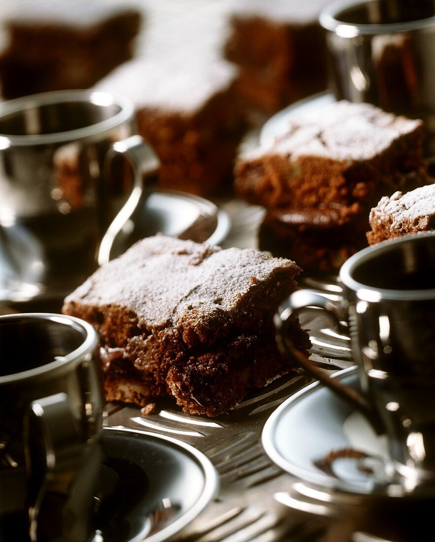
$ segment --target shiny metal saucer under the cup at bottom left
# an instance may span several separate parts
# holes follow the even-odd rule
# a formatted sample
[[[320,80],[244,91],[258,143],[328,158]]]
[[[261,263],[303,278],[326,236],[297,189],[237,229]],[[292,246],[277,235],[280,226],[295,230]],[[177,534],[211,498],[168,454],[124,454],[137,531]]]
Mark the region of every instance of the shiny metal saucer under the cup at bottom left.
[[[179,535],[217,490],[215,468],[192,446],[145,431],[105,428],[66,510],[80,518],[72,529],[79,531],[84,520],[87,531],[95,532],[93,542],[162,542]]]

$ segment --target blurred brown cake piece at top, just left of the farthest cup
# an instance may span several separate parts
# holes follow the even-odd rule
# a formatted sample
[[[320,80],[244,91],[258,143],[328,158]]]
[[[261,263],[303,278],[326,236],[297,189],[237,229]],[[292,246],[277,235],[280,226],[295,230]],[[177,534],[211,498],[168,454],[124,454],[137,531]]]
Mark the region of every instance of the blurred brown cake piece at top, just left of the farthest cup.
[[[326,88],[318,18],[329,0],[236,0],[226,57],[240,67],[237,92],[264,112]]]

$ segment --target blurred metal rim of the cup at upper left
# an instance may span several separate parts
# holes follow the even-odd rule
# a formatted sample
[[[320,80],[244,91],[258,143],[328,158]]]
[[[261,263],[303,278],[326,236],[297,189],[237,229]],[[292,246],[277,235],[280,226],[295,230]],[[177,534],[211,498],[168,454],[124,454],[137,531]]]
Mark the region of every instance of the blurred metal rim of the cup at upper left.
[[[65,132],[54,132],[50,134],[29,134],[29,135],[13,135],[0,132],[0,150],[7,149],[10,146],[29,146],[29,145],[47,145],[53,143],[65,143],[76,139],[84,139],[93,135],[112,130],[134,115],[134,104],[125,96],[115,95],[108,92],[98,90],[75,90],[75,91],[54,91],[34,94],[31,96],[23,96],[8,100],[0,104],[0,120],[11,113],[25,111],[31,107],[40,107],[49,104],[60,104],[62,102],[87,102],[94,105],[108,106],[119,105],[120,111],[109,119],[95,122],[83,128],[68,130]]]

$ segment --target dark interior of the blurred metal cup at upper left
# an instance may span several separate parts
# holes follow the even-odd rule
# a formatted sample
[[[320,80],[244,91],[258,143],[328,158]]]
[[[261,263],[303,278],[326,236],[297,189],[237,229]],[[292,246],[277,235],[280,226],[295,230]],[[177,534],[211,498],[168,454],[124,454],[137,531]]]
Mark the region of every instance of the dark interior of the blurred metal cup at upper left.
[[[42,135],[79,130],[111,119],[121,111],[118,104],[98,105],[71,100],[28,106],[0,118],[2,135]]]

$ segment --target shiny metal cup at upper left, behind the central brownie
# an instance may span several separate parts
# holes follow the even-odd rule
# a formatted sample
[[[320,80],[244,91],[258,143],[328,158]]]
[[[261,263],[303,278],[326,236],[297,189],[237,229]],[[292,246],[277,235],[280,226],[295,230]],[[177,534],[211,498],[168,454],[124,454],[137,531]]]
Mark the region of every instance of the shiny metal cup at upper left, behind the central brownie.
[[[79,90],[1,104],[0,300],[63,299],[158,167],[126,98]]]

